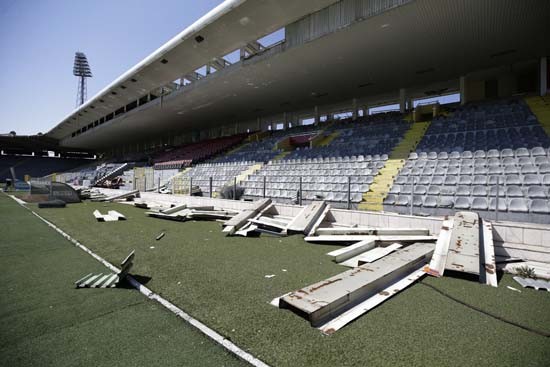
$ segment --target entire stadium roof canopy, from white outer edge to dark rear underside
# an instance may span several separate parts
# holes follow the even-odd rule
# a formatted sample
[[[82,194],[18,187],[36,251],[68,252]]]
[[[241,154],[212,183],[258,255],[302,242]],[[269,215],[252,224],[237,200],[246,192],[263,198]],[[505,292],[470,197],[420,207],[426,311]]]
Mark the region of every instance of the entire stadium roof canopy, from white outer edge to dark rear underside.
[[[205,129],[356,96],[391,91],[397,95],[399,88],[456,82],[469,72],[518,67],[550,54],[546,0],[357,1],[380,11],[308,38],[308,30],[318,26],[315,22],[330,21],[310,14],[333,3],[226,1],[47,135],[61,139],[62,145],[102,149],[154,134]],[[285,42],[71,137],[80,127],[154,88],[285,26]]]

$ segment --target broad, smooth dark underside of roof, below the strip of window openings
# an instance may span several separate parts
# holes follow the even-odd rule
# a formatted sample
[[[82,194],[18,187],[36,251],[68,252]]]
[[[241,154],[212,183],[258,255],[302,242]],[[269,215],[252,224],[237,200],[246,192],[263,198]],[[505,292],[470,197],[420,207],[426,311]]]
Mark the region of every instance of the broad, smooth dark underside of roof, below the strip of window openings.
[[[157,99],[62,144],[102,149],[356,96],[397,94],[398,88],[532,60],[550,54],[549,15],[545,0],[416,0],[233,64],[170,94],[162,105]],[[50,135],[63,137],[75,126]]]

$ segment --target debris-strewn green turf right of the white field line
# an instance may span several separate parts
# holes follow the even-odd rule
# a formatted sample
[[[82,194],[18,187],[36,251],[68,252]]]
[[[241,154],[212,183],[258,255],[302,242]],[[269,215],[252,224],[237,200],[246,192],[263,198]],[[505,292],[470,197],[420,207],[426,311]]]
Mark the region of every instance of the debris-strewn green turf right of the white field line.
[[[31,205],[36,209],[36,206]],[[127,221],[99,223],[94,209]],[[323,336],[272,298],[346,270],[335,247],[301,236],[225,237],[216,222],[149,218],[124,204],[85,202],[38,212],[111,262],[136,250],[133,273],[148,287],[274,366],[548,366],[550,338],[498,321],[415,284]],[[165,232],[160,241],[157,235]],[[274,274],[275,277],[265,278]],[[456,277],[425,278],[448,294],[527,326],[550,331],[550,294],[516,293]]]

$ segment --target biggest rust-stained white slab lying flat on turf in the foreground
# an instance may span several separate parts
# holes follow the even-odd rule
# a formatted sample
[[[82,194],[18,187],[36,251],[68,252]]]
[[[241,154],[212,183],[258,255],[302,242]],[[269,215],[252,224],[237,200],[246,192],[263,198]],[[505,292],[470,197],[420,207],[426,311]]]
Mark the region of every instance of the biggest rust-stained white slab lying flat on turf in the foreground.
[[[434,245],[431,243],[415,243],[376,263],[361,265],[291,292],[280,299],[280,306],[304,315],[313,326],[326,324],[413,271],[421,269],[430,259],[433,250]]]

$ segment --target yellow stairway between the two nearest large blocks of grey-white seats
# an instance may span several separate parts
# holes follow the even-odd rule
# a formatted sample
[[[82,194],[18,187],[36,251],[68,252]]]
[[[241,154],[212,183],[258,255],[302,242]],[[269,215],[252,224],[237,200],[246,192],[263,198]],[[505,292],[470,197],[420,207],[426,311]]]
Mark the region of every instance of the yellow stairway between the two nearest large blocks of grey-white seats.
[[[393,180],[403,168],[409,153],[416,149],[422,137],[428,130],[430,122],[413,123],[411,128],[405,133],[403,139],[391,151],[384,167],[374,177],[374,182],[370,185],[369,191],[363,194],[363,201],[359,203],[359,209],[381,211],[382,203],[388,195],[393,184]]]

